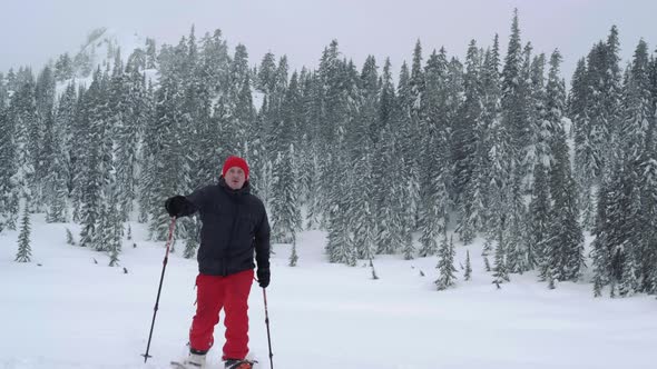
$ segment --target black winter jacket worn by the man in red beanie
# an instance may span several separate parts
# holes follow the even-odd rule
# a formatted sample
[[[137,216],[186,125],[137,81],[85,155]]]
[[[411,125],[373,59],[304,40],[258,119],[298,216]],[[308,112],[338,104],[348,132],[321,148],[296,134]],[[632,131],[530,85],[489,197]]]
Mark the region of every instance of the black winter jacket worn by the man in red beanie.
[[[269,222],[261,199],[248,182],[233,190],[224,178],[185,197],[180,216],[200,213],[198,269],[204,275],[228,276],[253,269],[254,250],[258,269],[269,268]]]

